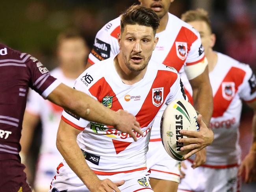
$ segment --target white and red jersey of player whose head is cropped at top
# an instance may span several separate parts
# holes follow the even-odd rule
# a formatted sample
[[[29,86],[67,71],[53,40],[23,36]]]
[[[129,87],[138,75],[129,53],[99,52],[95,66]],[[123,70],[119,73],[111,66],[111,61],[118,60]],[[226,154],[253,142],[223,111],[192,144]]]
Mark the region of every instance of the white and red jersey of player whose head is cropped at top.
[[[89,63],[97,63],[119,52],[118,33],[120,33],[120,17],[111,20],[98,31],[93,49],[89,54]],[[202,66],[200,62],[204,61],[204,49],[199,33],[192,26],[168,13],[167,26],[164,31],[156,33],[156,37],[159,37],[159,41],[151,60],[172,66],[178,72],[185,70],[189,79],[197,77],[204,71],[207,62],[199,70],[197,66]],[[182,66],[184,70],[181,71]],[[155,119],[150,139],[161,140],[159,127],[164,109],[165,107]]]

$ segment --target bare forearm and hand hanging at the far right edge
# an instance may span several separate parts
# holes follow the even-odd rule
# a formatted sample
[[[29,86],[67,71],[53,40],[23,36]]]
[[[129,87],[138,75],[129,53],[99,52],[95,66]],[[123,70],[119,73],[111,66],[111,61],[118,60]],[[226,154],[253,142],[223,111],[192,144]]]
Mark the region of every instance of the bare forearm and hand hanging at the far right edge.
[[[250,183],[256,181],[256,101],[247,104],[254,111],[252,118],[252,146],[241,163],[239,175],[245,172],[245,182]]]

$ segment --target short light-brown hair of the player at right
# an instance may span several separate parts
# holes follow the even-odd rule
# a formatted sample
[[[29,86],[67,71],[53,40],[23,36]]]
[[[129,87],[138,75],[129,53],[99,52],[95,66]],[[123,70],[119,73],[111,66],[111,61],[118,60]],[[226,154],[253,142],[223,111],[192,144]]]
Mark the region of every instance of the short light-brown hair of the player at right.
[[[206,22],[208,28],[211,31],[211,20],[209,18],[209,14],[202,8],[198,8],[195,10],[189,10],[181,15],[181,19],[185,22],[193,22],[193,21],[204,21]]]

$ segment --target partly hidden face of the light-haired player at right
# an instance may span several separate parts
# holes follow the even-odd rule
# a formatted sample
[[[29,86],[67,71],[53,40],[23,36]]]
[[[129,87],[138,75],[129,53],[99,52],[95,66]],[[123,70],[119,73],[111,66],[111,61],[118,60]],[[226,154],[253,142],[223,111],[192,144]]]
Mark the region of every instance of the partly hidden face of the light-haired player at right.
[[[202,40],[202,46],[204,47],[204,53],[207,56],[211,48],[213,48],[215,43],[215,35],[211,33],[208,25],[204,21],[193,21],[188,22],[193,28],[195,28],[199,33]]]

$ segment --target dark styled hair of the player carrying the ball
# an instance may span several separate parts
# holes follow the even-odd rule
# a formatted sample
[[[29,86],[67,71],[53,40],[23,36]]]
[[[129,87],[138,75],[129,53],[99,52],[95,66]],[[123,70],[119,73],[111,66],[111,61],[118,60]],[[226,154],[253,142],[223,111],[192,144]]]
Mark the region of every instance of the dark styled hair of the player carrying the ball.
[[[132,5],[121,14],[121,32],[127,24],[143,25],[153,28],[154,34],[159,27],[160,18],[152,10],[143,5]]]

